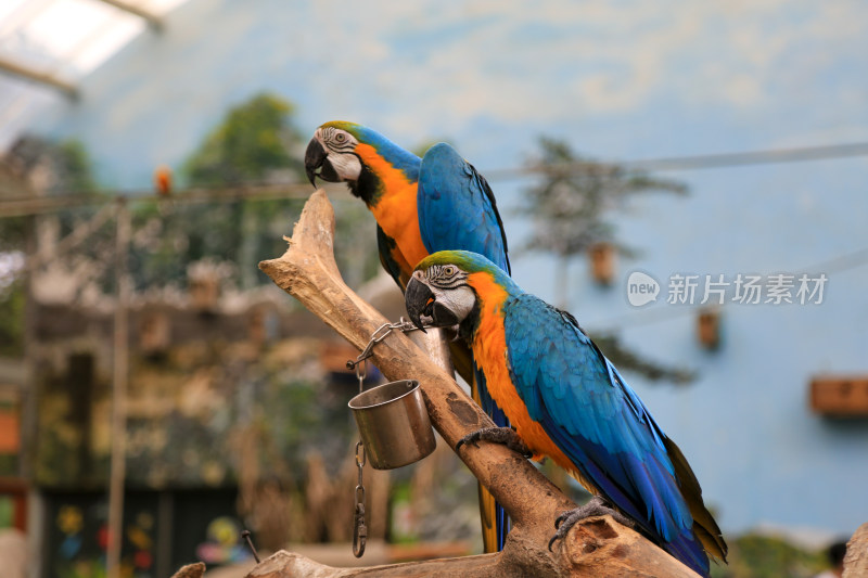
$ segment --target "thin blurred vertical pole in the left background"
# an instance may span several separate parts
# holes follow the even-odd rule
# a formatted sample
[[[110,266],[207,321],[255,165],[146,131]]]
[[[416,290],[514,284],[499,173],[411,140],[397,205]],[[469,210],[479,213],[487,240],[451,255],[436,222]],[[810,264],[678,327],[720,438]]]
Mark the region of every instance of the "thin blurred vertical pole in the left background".
[[[127,445],[127,380],[128,373],[128,304],[129,274],[127,272],[130,237],[130,216],[126,201],[118,200],[115,235],[115,334],[114,378],[112,383],[112,464],[108,480],[108,552],[106,575],[118,578],[120,574],[120,544],[124,524],[124,479],[126,478]]]

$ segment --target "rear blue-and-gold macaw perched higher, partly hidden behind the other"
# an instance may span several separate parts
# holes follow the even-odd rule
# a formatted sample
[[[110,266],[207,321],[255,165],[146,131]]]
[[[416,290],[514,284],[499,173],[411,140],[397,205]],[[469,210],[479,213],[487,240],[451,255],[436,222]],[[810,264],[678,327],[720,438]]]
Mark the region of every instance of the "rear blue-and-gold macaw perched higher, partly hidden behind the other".
[[[413,266],[431,253],[465,249],[481,253],[510,270],[507,237],[492,189],[471,164],[446,143],[422,158],[367,127],[326,123],[305,153],[305,169],[316,187],[319,177],[346,182],[376,219],[380,261],[401,291]],[[509,425],[487,395],[484,376],[474,371],[470,350],[450,345],[452,363],[471,384],[473,398],[499,426]],[[499,551],[509,521],[490,493],[480,486],[483,542]]]

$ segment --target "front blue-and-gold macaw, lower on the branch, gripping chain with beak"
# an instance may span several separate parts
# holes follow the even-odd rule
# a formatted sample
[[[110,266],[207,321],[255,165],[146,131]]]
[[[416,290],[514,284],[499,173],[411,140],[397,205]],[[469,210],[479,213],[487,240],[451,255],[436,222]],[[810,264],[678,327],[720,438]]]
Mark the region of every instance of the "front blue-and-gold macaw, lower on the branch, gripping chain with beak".
[[[482,439],[550,457],[593,493],[558,518],[552,542],[577,521],[611,513],[627,516],[702,576],[709,576],[709,554],[726,560],[726,542],[681,451],[573,316],[463,251],[424,258],[405,299],[420,329],[422,317],[435,326],[458,326],[514,427],[475,432],[459,447]]]

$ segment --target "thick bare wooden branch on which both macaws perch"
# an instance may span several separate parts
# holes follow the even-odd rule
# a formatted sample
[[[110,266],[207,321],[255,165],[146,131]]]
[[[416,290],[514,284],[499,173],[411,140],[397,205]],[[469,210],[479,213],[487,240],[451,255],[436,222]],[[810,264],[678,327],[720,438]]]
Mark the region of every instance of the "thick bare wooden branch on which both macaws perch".
[[[347,287],[334,261],[334,213],[326,193],[311,195],[286,239],[290,247],[259,264],[271,280],[357,348],[386,323],[375,309]],[[431,421],[455,448],[467,434],[493,425],[487,415],[407,336],[393,333],[373,349],[373,362],[390,380],[418,380]],[[695,576],[689,568],[637,532],[610,517],[577,524],[554,553],[547,549],[554,518],[574,508],[531,462],[503,446],[462,447],[460,458],[512,516],[513,529],[500,554],[375,568],[376,576]],[[279,552],[248,576],[357,576],[372,568],[335,569]],[[297,573],[297,574],[294,574]]]

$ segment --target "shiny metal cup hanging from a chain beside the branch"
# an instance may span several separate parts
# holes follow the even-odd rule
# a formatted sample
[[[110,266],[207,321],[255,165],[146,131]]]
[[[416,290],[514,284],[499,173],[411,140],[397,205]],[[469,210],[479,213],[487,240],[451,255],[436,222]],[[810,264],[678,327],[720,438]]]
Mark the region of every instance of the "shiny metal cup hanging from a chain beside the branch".
[[[392,382],[349,400],[365,452],[374,470],[393,470],[418,462],[437,441],[419,382]]]

